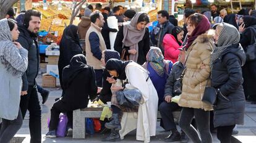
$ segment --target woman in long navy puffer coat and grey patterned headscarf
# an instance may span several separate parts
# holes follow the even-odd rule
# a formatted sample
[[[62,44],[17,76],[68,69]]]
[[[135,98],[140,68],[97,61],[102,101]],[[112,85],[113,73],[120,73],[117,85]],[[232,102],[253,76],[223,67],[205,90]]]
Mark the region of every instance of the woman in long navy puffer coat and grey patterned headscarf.
[[[218,99],[213,123],[220,142],[231,143],[234,127],[244,124],[245,97],[241,66],[246,56],[239,44],[239,31],[233,25],[220,23],[214,39],[216,47],[211,54],[211,86],[218,92]]]

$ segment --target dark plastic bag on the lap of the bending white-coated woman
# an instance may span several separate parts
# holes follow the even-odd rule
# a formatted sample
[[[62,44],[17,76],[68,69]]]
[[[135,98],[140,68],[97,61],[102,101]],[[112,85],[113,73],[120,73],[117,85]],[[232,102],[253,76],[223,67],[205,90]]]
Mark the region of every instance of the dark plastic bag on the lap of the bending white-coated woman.
[[[142,99],[142,92],[139,89],[127,89],[124,91],[117,91],[117,102],[125,107],[138,107]]]

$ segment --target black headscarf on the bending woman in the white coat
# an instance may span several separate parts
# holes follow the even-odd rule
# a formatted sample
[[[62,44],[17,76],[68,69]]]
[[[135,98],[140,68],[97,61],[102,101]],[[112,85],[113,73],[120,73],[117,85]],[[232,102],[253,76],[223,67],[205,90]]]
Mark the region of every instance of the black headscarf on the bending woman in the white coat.
[[[109,59],[106,63],[106,70],[116,70],[117,78],[120,80],[126,80],[126,65],[128,65],[130,61],[117,60],[117,59]]]

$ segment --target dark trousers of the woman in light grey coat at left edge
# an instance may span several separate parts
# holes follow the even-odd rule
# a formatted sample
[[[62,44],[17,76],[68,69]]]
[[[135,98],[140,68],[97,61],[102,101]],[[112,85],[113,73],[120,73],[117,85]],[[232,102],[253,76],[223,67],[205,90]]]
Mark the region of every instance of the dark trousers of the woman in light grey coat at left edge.
[[[19,109],[19,114],[15,120],[2,119],[0,130],[0,143],[11,141],[12,137],[19,131],[22,126],[22,112]]]

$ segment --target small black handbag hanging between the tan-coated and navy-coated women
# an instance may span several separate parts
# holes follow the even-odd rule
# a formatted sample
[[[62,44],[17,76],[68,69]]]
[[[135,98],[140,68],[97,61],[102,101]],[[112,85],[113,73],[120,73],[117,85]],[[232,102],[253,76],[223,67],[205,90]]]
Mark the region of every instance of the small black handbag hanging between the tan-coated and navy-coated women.
[[[210,80],[210,77],[208,81]],[[208,86],[208,81],[207,81],[207,85],[205,86],[205,92],[203,92],[202,102],[205,102],[206,104],[214,105],[216,103],[218,92],[212,86]]]

